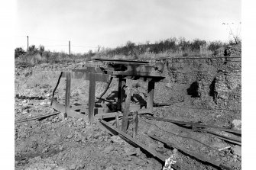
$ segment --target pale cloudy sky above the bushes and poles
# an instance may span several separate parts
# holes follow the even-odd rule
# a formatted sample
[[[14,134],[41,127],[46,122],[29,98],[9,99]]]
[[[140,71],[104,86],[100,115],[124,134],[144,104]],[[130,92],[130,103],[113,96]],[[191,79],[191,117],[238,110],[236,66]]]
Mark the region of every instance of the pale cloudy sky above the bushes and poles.
[[[228,42],[240,22],[241,0],[17,0],[15,45],[26,50],[29,36],[30,45],[68,52],[70,40],[72,53],[86,53],[128,40]]]

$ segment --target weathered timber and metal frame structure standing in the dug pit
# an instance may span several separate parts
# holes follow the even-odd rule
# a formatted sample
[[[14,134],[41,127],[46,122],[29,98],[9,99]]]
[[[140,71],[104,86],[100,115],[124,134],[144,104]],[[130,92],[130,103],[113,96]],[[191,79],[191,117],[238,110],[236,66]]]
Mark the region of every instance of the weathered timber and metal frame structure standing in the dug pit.
[[[154,84],[165,78],[163,66],[159,64],[152,66],[148,62],[132,60],[96,59],[96,61],[105,63],[107,67],[86,67],[85,69],[73,69],[71,72],[60,73],[57,85],[53,90],[53,98],[51,101],[51,105],[55,110],[63,113],[63,117],[83,118],[89,121],[89,123],[92,123],[95,119],[116,117],[116,115],[121,117],[124,112],[122,104],[125,102],[126,79],[142,79],[148,83],[147,108],[140,109],[140,107],[131,105],[129,110],[137,110],[141,114],[151,113],[153,111]],[[54,92],[61,78],[66,78],[65,104],[60,104],[57,98],[54,98]],[[103,99],[102,96],[99,98],[99,101],[96,101],[96,82],[109,82],[110,85],[113,78],[118,78],[118,101],[110,102],[110,104],[102,104],[100,101],[107,101]],[[87,105],[70,105],[71,79],[89,80],[89,99]],[[105,91],[107,91],[109,85]],[[78,107],[84,109],[88,108],[88,115],[79,112]]]

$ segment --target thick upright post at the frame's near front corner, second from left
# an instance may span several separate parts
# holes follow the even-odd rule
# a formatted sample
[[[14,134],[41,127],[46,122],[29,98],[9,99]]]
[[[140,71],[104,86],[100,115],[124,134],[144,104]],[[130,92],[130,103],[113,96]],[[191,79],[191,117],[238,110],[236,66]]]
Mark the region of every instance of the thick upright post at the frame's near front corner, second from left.
[[[94,120],[94,106],[95,106],[95,88],[96,88],[96,74],[89,73],[89,123]]]

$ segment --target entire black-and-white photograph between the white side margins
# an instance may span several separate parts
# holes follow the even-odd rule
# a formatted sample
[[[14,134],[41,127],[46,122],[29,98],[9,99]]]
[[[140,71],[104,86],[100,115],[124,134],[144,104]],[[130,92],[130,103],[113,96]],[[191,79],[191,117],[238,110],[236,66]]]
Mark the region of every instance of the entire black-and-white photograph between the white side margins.
[[[241,0],[16,0],[12,166],[244,169],[242,24]]]

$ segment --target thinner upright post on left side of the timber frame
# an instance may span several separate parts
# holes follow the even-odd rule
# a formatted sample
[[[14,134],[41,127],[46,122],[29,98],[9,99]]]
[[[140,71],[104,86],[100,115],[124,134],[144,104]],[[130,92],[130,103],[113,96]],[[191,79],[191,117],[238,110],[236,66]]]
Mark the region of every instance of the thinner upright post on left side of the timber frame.
[[[66,72],[65,114],[63,114],[63,118],[70,114],[70,86],[71,74],[70,72]]]

